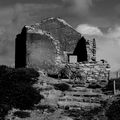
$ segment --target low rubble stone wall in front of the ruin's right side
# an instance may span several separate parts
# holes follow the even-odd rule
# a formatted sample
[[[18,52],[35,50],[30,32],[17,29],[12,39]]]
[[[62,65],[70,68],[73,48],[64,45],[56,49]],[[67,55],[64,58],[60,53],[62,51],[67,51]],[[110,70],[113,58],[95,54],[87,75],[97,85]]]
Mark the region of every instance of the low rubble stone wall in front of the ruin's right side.
[[[67,76],[77,84],[99,85],[104,87],[109,79],[109,64],[105,61],[65,65]]]

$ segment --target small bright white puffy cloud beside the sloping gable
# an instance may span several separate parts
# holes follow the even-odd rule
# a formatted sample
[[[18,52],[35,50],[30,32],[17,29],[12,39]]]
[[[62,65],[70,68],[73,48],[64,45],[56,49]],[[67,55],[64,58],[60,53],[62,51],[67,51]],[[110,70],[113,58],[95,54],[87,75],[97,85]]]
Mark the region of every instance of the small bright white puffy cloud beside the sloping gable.
[[[98,27],[94,27],[88,24],[78,25],[76,30],[80,32],[81,34],[87,34],[87,35],[102,35],[103,34]]]

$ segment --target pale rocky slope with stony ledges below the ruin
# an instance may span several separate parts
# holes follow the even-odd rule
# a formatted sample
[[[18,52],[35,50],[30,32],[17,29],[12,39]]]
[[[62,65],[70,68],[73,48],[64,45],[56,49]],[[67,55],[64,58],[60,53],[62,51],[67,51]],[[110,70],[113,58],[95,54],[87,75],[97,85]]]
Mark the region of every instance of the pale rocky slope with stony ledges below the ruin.
[[[65,86],[69,88],[63,89]],[[12,109],[6,120],[94,120],[104,117],[102,101],[108,97],[100,89],[75,87],[64,80],[40,76],[34,87],[44,96],[33,110]]]

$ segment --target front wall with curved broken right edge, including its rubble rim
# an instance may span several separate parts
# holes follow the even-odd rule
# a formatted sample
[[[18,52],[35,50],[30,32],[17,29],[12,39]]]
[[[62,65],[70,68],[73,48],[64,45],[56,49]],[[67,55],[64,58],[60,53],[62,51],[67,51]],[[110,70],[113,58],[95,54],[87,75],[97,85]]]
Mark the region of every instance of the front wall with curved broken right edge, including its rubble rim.
[[[28,29],[28,28],[27,28]],[[49,69],[61,62],[60,43],[42,30],[27,30],[26,63],[27,67]]]

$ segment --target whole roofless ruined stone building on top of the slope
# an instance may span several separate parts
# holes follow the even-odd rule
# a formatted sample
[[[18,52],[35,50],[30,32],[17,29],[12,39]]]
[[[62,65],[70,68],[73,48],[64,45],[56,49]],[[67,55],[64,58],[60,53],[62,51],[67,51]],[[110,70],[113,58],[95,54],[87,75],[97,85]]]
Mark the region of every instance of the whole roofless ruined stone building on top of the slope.
[[[95,40],[86,41],[64,20],[48,18],[24,26],[17,35],[15,66],[39,69],[45,65],[95,61],[95,47]]]

